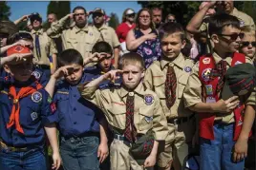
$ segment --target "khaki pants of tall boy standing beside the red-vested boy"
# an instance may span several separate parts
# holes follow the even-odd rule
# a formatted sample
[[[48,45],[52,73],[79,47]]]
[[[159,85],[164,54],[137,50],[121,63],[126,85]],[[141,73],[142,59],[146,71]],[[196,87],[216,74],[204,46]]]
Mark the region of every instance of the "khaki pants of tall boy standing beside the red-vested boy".
[[[195,134],[195,119],[181,124],[168,123],[168,130],[169,134],[165,140],[164,151],[160,153],[158,166],[164,168],[172,161],[182,166]]]

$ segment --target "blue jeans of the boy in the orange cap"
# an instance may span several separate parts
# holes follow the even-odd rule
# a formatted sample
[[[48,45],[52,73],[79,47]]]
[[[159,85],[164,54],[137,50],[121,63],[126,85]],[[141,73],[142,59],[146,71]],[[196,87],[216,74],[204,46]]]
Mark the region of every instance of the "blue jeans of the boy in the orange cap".
[[[26,152],[0,149],[1,170],[47,170],[45,154],[42,149],[30,149]]]

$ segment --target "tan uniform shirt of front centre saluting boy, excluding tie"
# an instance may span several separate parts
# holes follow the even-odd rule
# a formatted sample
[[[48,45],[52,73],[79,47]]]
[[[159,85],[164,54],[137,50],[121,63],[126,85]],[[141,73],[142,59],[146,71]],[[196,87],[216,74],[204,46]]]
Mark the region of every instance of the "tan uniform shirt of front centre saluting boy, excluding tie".
[[[81,95],[99,106],[105,113],[108,123],[123,134],[126,123],[126,98],[128,91],[123,87],[96,90],[96,86],[79,87]],[[145,134],[149,129],[155,132],[155,140],[165,140],[168,129],[167,122],[160,107],[160,99],[157,94],[149,89],[144,89],[140,83],[134,90],[135,109],[134,123],[137,132]],[[145,97],[152,101],[146,102]]]

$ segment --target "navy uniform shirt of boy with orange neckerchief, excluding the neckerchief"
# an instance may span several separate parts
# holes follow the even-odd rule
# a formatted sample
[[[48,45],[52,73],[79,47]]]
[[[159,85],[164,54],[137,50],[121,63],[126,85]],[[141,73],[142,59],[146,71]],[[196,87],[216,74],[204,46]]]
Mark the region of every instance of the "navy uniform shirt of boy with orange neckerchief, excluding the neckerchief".
[[[0,72],[0,75],[3,75]],[[45,142],[44,125],[54,123],[54,113],[51,111],[51,97],[44,88],[32,93],[31,95],[21,98],[19,122],[24,130],[24,134],[19,133],[15,129],[15,124],[7,128],[7,123],[10,121],[12,99],[8,95],[10,84],[5,84],[0,79],[0,138],[3,142],[10,146],[28,147],[38,146],[43,147]],[[33,86],[35,83],[30,79],[26,83],[14,82],[13,85],[16,91],[23,86]]]

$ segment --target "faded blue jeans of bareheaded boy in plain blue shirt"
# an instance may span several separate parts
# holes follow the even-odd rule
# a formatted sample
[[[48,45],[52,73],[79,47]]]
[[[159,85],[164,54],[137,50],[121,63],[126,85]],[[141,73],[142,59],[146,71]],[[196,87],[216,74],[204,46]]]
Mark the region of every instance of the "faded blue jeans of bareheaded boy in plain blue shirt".
[[[61,138],[60,155],[65,170],[99,170],[97,137]]]

